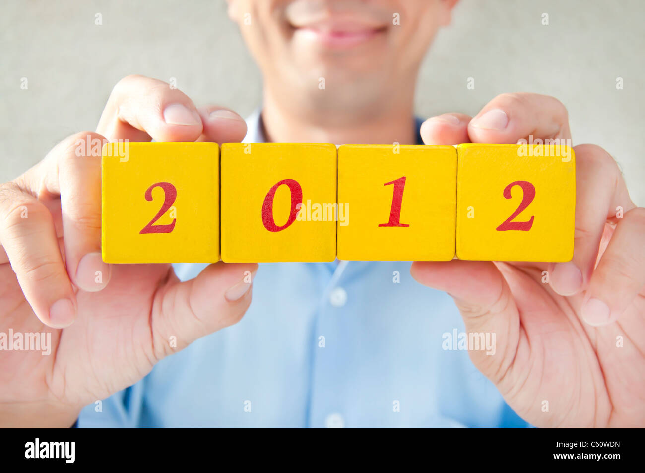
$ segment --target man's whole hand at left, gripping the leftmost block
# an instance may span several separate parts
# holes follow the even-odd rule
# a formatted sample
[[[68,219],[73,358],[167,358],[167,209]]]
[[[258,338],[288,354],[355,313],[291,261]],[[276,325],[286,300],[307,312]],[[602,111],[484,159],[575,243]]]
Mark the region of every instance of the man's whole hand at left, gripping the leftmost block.
[[[96,133],[68,137],[0,185],[0,332],[52,332],[48,356],[0,351],[0,425],[70,427],[85,405],[239,321],[251,302],[244,279],[255,264],[215,263],[181,283],[169,264],[103,263],[101,157],[77,156],[78,140],[230,143],[245,133],[230,110],[197,109],[166,83],[130,76]]]

